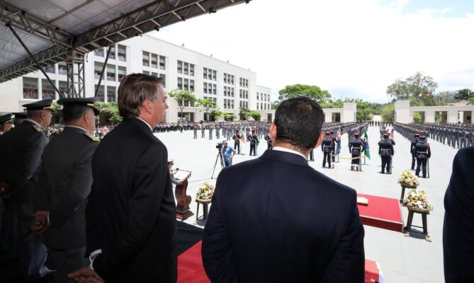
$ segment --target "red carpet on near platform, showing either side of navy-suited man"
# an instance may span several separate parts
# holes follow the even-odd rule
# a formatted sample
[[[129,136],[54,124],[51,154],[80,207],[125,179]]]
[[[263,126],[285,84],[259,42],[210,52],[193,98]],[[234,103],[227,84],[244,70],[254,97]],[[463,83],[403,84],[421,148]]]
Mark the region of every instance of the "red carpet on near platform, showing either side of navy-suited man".
[[[370,205],[370,201],[369,201]],[[203,260],[201,259],[201,243],[199,241],[178,257],[178,283],[209,283],[205,275]],[[365,282],[382,282],[380,269],[376,262],[366,260]],[[376,281],[373,281],[376,280]]]

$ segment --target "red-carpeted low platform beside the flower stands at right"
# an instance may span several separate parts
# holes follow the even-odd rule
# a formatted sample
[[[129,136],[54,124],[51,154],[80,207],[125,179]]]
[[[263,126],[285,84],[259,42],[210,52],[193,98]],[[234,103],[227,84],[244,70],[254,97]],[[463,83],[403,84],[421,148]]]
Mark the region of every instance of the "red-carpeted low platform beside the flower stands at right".
[[[398,200],[389,197],[376,197],[375,195],[357,196],[368,199],[368,206],[358,205],[364,225],[396,232],[403,231],[402,213]]]

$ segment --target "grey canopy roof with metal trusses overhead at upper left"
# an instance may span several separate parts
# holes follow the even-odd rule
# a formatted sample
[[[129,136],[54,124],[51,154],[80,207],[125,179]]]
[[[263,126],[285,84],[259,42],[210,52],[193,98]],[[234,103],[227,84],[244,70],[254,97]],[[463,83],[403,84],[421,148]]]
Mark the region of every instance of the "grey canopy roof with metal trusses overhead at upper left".
[[[249,0],[0,0],[0,83]]]

